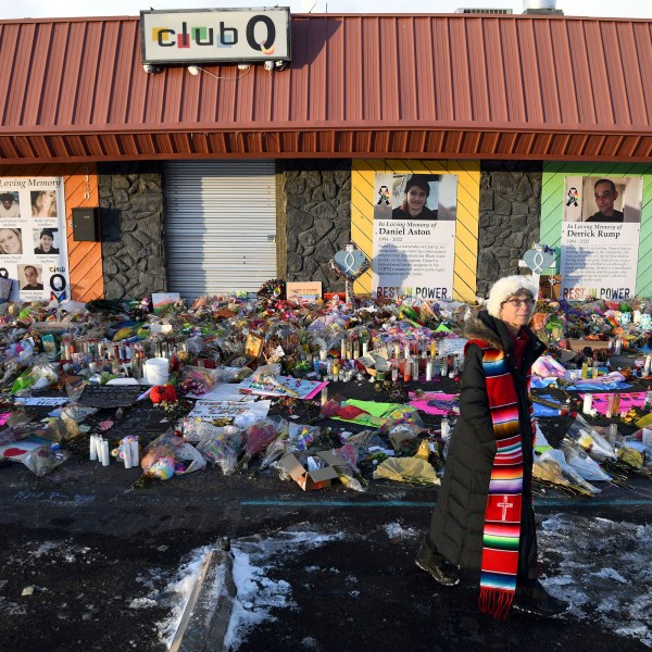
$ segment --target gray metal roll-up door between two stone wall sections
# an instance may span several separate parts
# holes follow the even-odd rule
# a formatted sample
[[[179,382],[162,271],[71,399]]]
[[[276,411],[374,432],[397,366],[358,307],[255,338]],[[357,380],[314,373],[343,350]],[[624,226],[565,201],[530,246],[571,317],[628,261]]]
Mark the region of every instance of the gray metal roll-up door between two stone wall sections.
[[[274,173],[274,161],[165,164],[170,291],[255,292],[276,278]]]

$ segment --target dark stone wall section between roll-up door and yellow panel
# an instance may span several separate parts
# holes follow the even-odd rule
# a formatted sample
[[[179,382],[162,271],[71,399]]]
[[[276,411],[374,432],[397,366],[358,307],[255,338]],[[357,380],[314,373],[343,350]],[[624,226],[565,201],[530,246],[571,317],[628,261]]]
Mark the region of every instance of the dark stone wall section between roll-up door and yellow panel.
[[[351,161],[288,161],[279,166],[287,280],[321,280],[325,292],[343,291],[344,283],[329,261],[351,239]]]

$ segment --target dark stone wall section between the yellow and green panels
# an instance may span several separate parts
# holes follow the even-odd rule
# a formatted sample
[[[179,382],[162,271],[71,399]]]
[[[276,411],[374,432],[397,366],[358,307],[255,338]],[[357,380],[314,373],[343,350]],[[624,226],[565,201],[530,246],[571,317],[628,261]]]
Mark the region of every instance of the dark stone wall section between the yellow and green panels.
[[[539,241],[542,166],[538,161],[482,161],[477,294],[510,274],[529,274],[518,261]]]

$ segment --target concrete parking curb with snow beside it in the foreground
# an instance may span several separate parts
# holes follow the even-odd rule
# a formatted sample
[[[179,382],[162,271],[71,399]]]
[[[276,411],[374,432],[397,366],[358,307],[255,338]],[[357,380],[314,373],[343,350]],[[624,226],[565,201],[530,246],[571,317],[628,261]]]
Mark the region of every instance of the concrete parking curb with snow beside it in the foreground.
[[[233,556],[206,554],[170,652],[220,652],[236,598]]]

